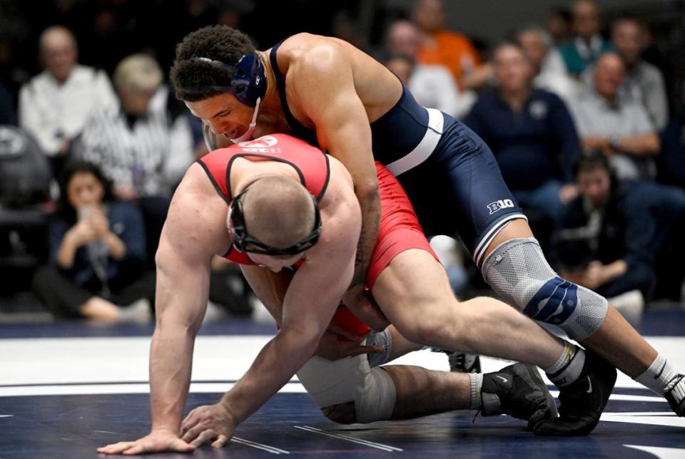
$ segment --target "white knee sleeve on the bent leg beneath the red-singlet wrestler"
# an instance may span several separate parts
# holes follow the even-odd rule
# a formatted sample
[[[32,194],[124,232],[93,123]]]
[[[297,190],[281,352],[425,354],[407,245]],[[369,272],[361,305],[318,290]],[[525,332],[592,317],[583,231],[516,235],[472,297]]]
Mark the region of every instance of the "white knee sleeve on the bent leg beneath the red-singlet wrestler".
[[[370,368],[366,354],[336,361],[312,357],[298,378],[320,408],[354,402],[357,423],[385,421],[395,409],[395,383],[387,371]]]

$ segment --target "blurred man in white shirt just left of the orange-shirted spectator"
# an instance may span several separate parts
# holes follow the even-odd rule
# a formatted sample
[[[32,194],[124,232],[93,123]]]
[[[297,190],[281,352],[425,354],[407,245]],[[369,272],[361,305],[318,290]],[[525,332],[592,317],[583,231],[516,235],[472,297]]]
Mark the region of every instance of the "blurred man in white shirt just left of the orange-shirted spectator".
[[[419,41],[419,30],[412,22],[392,23],[385,42],[385,66],[405,83],[418,103],[461,118],[474,103],[475,93],[462,93],[445,66],[417,63]]]

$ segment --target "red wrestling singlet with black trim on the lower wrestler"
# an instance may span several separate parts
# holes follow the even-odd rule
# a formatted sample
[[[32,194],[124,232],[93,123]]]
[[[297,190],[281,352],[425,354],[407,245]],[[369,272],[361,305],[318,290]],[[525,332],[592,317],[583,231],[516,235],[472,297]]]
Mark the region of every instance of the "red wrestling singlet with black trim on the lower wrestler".
[[[215,190],[223,197],[227,205],[230,205],[232,199],[230,167],[235,158],[286,163],[298,172],[300,182],[316,197],[318,202],[325,195],[330,176],[328,155],[290,135],[273,134],[241,142],[229,148],[214,150],[198,160],[207,172]],[[407,249],[427,250],[440,262],[428,244],[409,198],[395,176],[378,162],[376,162],[376,174],[380,190],[381,215],[378,237],[366,276],[368,289],[373,288],[377,277],[390,264],[390,260]],[[233,247],[224,257],[238,264],[255,264],[245,252],[238,252]],[[342,306],[335,313],[333,322],[355,334],[362,334],[369,330],[366,324]]]

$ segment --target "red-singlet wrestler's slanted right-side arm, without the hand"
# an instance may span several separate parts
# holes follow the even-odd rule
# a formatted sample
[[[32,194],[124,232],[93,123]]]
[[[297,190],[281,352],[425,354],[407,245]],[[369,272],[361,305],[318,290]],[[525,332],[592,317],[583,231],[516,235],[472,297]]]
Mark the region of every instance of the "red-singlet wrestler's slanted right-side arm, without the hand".
[[[308,252],[285,294],[278,335],[222,398],[235,425],[262,406],[313,356],[352,279],[360,224],[356,203],[324,222],[320,241]]]

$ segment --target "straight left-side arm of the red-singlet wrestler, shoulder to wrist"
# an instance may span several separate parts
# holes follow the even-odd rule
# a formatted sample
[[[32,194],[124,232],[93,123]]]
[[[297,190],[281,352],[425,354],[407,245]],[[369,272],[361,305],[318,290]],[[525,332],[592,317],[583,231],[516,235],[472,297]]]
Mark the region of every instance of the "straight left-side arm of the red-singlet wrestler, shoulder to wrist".
[[[207,306],[210,260],[225,249],[225,214],[215,212],[222,204],[218,195],[208,198],[181,183],[161,234],[156,256],[157,324],[150,350],[153,430],[178,435],[191,381],[193,345]]]

